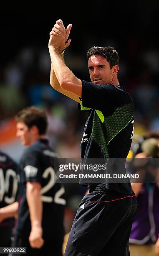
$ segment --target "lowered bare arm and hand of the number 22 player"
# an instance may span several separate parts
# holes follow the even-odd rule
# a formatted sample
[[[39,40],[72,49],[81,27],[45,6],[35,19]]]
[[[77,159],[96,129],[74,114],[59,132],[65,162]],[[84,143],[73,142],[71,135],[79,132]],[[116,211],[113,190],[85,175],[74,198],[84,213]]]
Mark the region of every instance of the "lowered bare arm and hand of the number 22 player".
[[[31,221],[29,242],[31,247],[41,248],[44,244],[44,240],[42,238],[43,228],[41,226],[43,214],[43,203],[40,195],[41,185],[39,182],[27,182],[26,187],[26,196]]]

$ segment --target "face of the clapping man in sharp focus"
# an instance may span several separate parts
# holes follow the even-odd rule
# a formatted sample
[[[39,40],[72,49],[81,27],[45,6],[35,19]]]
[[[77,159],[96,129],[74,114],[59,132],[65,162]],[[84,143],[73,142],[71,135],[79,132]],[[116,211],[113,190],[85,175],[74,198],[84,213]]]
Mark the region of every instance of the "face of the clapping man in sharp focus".
[[[94,84],[111,84],[114,68],[100,55],[93,55],[88,60],[89,75]]]

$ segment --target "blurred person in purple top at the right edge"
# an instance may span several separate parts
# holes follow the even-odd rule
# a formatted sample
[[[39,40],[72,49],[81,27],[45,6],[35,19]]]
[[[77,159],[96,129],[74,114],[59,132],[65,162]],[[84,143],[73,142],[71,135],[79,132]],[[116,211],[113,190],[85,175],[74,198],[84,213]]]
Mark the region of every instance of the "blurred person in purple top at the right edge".
[[[159,255],[159,133],[146,133],[140,141],[134,144],[131,166],[140,175],[141,183],[131,184],[138,210],[129,240],[130,252],[132,256],[155,256]]]

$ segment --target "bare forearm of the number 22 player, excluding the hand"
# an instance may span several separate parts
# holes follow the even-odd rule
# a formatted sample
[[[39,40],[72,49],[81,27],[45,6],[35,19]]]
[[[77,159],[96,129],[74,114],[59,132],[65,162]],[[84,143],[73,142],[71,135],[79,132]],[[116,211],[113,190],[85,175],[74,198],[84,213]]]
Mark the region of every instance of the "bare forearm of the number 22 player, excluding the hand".
[[[35,187],[27,182],[27,202],[30,212],[31,227],[41,226],[43,203],[40,195],[40,187]]]

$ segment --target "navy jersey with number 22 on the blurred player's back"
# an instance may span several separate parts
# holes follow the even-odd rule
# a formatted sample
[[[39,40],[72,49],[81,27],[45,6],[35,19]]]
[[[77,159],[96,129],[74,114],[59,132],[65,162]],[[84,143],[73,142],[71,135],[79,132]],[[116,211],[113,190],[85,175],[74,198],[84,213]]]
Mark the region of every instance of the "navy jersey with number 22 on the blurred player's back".
[[[21,168],[21,196],[19,198],[18,223],[15,233],[23,236],[30,234],[31,223],[28,203],[26,199],[26,182],[39,182],[41,184],[41,198],[43,201],[43,238],[55,236],[63,238],[63,216],[66,200],[64,187],[57,183],[55,161],[57,154],[48,146],[48,140],[39,139],[28,147],[20,162]]]

